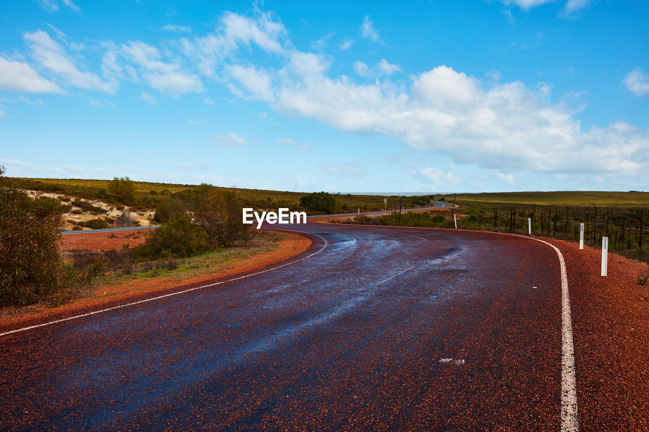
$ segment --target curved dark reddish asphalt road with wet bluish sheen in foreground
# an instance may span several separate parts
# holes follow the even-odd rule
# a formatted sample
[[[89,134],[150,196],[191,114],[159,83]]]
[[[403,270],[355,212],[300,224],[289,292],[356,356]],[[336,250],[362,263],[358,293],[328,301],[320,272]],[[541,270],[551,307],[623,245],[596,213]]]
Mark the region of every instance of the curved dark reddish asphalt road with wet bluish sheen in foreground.
[[[295,263],[2,335],[0,429],[560,429],[550,246],[287,229]]]

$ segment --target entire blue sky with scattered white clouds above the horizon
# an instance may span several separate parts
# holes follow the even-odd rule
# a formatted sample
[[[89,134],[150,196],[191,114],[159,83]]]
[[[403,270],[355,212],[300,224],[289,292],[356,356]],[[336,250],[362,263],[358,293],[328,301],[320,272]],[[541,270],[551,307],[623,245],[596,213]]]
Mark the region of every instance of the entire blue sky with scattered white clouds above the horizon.
[[[649,4],[0,5],[8,176],[649,191]]]

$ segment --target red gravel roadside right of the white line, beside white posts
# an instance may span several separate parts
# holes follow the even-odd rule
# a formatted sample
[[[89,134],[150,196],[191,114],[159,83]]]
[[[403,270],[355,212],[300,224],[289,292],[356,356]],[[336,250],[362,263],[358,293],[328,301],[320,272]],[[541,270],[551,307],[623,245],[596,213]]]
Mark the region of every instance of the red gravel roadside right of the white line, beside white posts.
[[[601,250],[545,240],[561,250],[568,271],[580,424],[649,430],[649,285],[638,284],[648,265],[609,254],[602,277]]]

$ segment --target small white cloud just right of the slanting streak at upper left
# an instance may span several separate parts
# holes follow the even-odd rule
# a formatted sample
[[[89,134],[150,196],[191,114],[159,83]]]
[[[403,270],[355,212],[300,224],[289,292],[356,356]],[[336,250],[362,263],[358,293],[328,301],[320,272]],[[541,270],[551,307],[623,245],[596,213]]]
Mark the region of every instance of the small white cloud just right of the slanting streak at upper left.
[[[193,73],[183,72],[179,64],[160,60],[158,49],[143,42],[130,42],[121,46],[121,54],[140,67],[140,76],[149,86],[179,96],[184,93],[203,91],[201,78]]]

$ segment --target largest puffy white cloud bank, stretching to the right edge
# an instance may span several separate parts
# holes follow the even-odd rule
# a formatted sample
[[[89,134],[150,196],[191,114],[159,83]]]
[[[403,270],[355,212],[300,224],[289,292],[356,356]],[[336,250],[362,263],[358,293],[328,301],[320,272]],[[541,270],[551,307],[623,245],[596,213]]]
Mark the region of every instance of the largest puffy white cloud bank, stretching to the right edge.
[[[476,78],[439,66],[412,76],[409,91],[378,80],[358,85],[344,76],[284,82],[275,108],[503,173],[649,171],[649,158],[640,157],[649,147],[646,130],[618,122],[583,131],[574,111],[548,104],[549,91],[521,82],[485,88]]]

